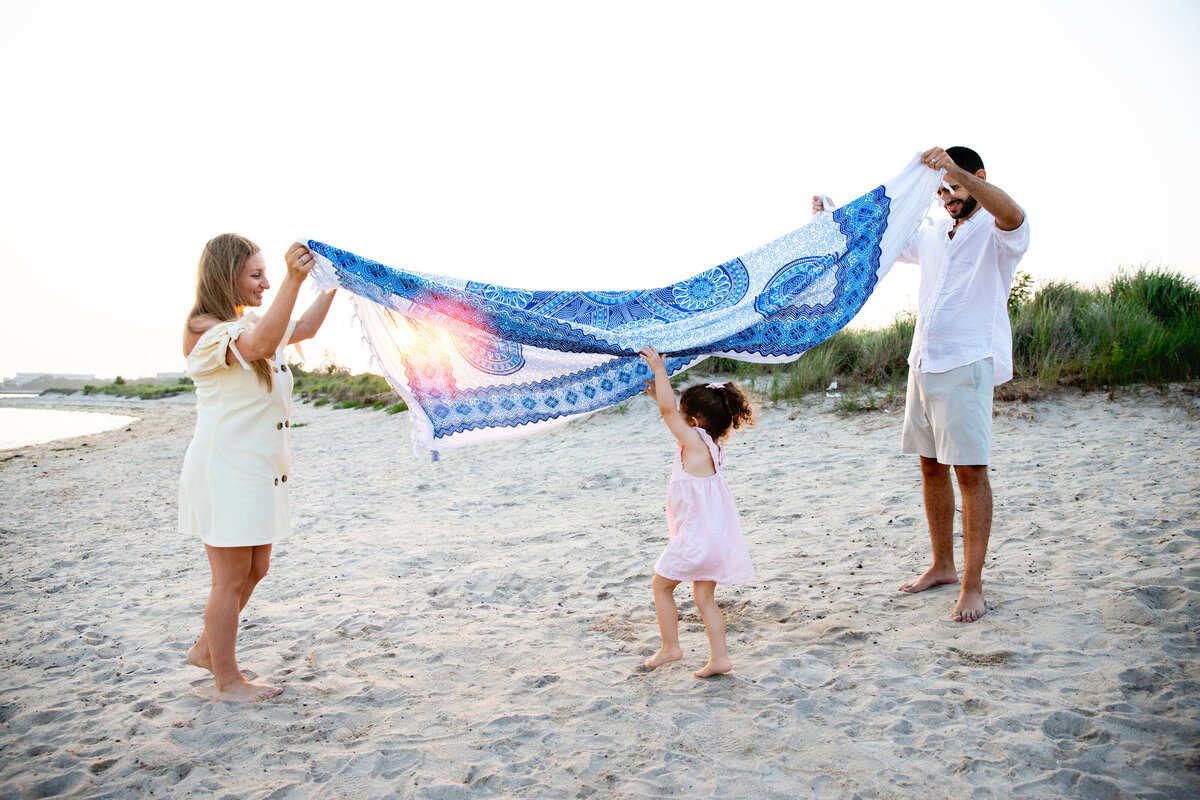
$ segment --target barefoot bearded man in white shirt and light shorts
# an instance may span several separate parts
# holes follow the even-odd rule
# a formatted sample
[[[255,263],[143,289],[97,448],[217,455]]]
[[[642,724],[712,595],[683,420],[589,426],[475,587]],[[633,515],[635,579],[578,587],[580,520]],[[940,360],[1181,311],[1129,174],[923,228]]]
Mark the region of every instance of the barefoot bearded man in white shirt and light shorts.
[[[920,264],[901,450],[920,457],[934,559],[900,591],[959,583],[953,469],[962,495],[964,559],[953,619],[973,622],[988,613],[983,563],[991,534],[992,387],[1013,377],[1008,291],[1030,246],[1030,224],[1021,207],[988,182],[973,150],[932,148],[920,158],[946,170],[937,196],[949,218],[913,234],[899,259]],[[814,211],[822,207],[812,201]]]

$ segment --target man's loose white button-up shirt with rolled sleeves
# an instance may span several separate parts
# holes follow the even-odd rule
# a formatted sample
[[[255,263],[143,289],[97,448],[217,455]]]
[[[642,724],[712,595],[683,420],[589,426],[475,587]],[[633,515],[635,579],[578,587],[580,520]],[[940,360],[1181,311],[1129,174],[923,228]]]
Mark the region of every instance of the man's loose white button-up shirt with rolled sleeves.
[[[920,264],[908,366],[947,372],[990,356],[998,386],[1013,377],[1008,290],[1030,247],[1030,218],[1015,230],[1001,230],[979,207],[950,239],[953,225],[949,218],[924,225],[900,253],[899,260]]]

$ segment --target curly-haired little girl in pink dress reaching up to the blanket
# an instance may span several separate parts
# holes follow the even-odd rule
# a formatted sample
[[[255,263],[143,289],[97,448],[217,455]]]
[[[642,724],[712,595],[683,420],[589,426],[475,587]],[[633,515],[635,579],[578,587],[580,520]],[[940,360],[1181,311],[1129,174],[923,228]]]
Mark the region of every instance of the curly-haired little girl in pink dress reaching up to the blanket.
[[[725,619],[713,600],[716,584],[754,581],[750,554],[742,540],[742,525],[733,497],[721,475],[725,450],[716,443],[731,429],[754,425],[754,409],[733,384],[696,385],[686,389],[676,408],[674,390],[662,356],[653,347],[642,357],[654,373],[646,392],[659,403],[667,428],[679,440],[671,488],[667,491],[667,527],[671,541],[654,565],[654,610],[659,618],[662,648],[646,660],[649,668],[683,657],[679,649],[679,612],[674,589],[691,581],[692,597],[704,620],[710,651],[696,678],[733,669],[725,651]]]

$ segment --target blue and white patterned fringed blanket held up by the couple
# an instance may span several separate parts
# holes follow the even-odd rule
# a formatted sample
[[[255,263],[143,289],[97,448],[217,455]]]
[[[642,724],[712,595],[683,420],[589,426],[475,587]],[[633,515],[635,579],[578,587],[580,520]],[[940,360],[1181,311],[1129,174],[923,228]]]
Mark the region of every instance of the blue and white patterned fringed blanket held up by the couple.
[[[720,355],[791,361],[863,307],[920,224],[938,173],[894,180],[740,258],[656,289],[552,291],[397,270],[324,242],[318,285],[352,294],[418,447],[523,435],[628,399],[653,344],[672,374]],[[808,203],[803,204],[804,206]]]

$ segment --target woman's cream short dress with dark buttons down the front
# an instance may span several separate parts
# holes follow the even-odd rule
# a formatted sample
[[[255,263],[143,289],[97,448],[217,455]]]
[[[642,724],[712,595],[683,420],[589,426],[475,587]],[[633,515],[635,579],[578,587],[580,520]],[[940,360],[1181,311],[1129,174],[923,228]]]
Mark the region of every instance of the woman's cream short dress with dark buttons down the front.
[[[196,383],[196,434],[184,456],[179,529],[212,547],[270,545],[292,530],[292,373],[283,348],[269,359],[271,390],[242,360],[235,341],[258,318],[214,325],[187,356]],[[295,329],[293,320],[283,337]],[[235,361],[226,363],[233,350]]]

